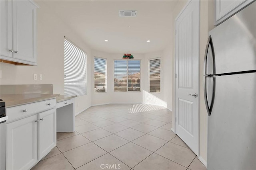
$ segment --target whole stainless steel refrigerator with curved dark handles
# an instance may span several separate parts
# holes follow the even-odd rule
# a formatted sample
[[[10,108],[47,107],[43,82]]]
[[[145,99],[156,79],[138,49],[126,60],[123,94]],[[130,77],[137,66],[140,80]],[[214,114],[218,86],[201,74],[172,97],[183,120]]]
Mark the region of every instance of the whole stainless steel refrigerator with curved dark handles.
[[[209,32],[207,168],[256,170],[256,2]]]

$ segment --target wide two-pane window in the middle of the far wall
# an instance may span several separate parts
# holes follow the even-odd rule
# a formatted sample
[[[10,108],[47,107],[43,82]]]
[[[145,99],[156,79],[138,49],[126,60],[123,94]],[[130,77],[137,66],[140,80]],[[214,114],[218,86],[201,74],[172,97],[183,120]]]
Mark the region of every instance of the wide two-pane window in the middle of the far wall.
[[[114,92],[140,91],[140,61],[114,61]]]

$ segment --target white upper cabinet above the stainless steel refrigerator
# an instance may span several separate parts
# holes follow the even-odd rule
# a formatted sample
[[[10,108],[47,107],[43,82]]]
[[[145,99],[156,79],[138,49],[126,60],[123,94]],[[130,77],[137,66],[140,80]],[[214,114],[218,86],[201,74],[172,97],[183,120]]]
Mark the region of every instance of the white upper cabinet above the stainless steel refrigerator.
[[[216,0],[215,25],[219,25],[252,2],[253,0]]]

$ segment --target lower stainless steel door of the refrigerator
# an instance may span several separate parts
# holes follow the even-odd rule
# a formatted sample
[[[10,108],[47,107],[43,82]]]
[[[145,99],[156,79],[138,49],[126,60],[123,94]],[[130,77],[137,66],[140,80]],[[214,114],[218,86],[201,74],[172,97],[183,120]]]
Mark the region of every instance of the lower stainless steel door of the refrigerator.
[[[256,73],[216,77],[208,170],[256,169]]]

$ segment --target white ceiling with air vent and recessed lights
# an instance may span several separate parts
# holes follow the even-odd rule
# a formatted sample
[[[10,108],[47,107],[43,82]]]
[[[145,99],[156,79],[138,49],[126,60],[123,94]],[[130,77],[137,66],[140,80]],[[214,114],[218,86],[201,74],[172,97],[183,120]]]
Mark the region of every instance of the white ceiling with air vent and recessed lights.
[[[172,10],[177,1],[49,0],[44,3],[98,51],[150,53],[163,50],[172,41]],[[119,10],[137,10],[137,16],[119,17]]]

